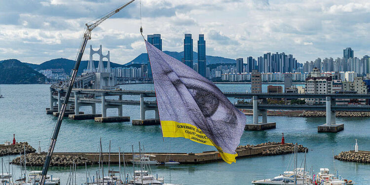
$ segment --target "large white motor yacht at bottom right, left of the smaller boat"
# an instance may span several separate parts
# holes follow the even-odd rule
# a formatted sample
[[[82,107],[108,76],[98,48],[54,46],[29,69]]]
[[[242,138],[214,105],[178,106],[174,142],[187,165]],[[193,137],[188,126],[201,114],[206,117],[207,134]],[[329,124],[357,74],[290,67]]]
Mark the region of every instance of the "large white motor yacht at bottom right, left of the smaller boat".
[[[303,182],[303,168],[296,169],[296,185],[313,185],[311,183],[311,176],[308,172],[304,172]],[[286,171],[284,174],[276,176],[272,179],[262,179],[258,181],[252,181],[254,185],[295,185],[295,171]]]

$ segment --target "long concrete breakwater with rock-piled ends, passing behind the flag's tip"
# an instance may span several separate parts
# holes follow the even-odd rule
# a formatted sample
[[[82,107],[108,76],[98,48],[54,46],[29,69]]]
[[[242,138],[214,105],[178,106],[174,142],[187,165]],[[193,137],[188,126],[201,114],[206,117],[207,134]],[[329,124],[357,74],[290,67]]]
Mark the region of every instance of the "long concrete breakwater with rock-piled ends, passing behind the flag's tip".
[[[304,148],[298,145],[298,152],[304,152]],[[254,156],[264,156],[264,155],[280,155],[292,153],[294,151],[294,144],[287,143],[282,145],[281,143],[268,142],[259,145],[247,145],[239,146],[236,150],[238,153],[237,158],[241,157],[254,157]],[[126,162],[132,159],[132,153],[122,153],[121,161],[124,159]],[[151,160],[157,160],[158,162],[164,163],[168,162],[169,159],[172,161],[177,161],[182,164],[198,164],[198,163],[208,163],[214,161],[221,161],[221,155],[218,151],[204,151],[201,153],[146,153],[150,155]],[[44,163],[46,153],[30,153],[26,155],[26,165],[41,166]],[[89,153],[89,152],[77,152],[77,153],[54,153],[53,159],[51,161],[51,166],[69,166],[73,162],[77,165],[87,164],[97,164],[99,161],[99,153]],[[109,153],[102,153],[102,158],[104,161],[108,160]],[[134,155],[139,155],[139,153],[134,153]],[[110,154],[111,164],[118,164],[118,153],[114,152]],[[12,163],[20,164],[20,157],[15,158]],[[24,161],[24,160],[23,160]]]

